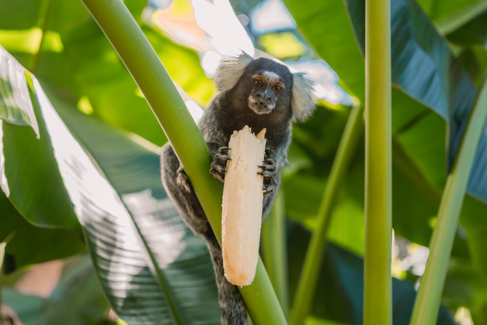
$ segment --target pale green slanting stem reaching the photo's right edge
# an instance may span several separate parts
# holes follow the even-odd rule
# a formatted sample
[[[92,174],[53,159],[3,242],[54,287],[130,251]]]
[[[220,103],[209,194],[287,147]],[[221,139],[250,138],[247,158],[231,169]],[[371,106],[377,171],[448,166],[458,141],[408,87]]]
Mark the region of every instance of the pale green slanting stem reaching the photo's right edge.
[[[430,256],[414,302],[411,325],[436,323],[468,177],[486,123],[487,82],[484,82],[443,190],[438,217],[431,236]]]

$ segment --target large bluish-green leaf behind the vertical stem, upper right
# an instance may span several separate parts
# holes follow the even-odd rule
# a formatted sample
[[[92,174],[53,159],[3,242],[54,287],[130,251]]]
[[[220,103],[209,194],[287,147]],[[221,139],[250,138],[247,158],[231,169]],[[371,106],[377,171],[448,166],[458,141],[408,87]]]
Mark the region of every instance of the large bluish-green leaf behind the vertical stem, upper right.
[[[365,2],[347,0],[358,43],[364,48]],[[477,90],[414,0],[391,2],[392,81],[448,123],[447,163],[451,166]],[[486,125],[487,130],[487,125]],[[487,202],[487,132],[482,136],[468,192]]]

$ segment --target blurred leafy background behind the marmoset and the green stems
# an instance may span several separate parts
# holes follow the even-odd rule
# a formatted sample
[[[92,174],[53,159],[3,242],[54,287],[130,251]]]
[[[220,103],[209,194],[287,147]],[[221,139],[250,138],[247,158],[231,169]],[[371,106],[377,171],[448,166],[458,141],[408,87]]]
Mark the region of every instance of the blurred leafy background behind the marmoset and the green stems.
[[[363,1],[125,4],[195,118],[215,92],[220,56],[238,49],[317,81],[318,109],[294,128],[281,187],[287,264],[274,267],[292,301],[348,114],[364,101]],[[408,324],[447,172],[485,78],[487,1],[393,0],[392,34],[393,310],[394,324]],[[166,137],[81,1],[0,0],[0,45],[11,55],[0,53],[2,313],[25,325],[218,323],[206,247],[159,181]],[[37,79],[16,79],[15,60]],[[7,100],[19,92],[24,101]],[[25,98],[34,115],[14,116],[26,112]],[[487,324],[485,130],[438,324]],[[363,179],[361,139],[306,324],[361,324]]]

